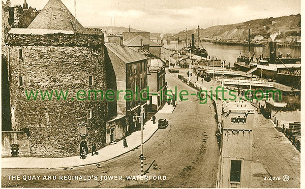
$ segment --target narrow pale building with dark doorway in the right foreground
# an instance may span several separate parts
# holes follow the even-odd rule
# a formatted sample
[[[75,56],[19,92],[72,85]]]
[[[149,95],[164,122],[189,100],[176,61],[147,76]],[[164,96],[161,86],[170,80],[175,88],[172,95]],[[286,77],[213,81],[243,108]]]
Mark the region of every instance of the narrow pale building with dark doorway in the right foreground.
[[[223,102],[218,186],[250,187],[254,108],[249,102]]]

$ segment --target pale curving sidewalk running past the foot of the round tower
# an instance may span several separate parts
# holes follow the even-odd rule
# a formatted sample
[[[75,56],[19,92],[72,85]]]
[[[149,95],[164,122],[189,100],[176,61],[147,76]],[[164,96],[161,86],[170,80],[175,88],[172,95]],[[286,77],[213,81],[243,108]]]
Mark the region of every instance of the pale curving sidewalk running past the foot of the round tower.
[[[165,104],[155,116],[156,120],[163,118],[164,114],[172,113],[175,107]],[[158,130],[158,123],[153,124],[152,119],[144,124],[143,142],[146,142]],[[86,165],[94,165],[114,159],[123,155],[141,145],[141,131],[136,131],[126,137],[128,147],[124,148],[123,140],[115,144],[105,146],[98,150],[98,155],[89,153],[86,159],[80,159],[80,156],[59,157],[59,158],[43,158],[43,157],[6,157],[2,158],[2,169],[56,169],[56,168],[72,168]]]

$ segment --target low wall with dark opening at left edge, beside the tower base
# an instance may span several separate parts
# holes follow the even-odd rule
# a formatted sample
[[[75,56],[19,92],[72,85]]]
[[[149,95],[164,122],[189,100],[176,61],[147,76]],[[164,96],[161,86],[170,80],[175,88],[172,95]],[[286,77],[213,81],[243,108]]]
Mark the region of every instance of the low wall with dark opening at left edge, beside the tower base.
[[[26,133],[21,131],[3,131],[2,132],[2,157],[11,157],[11,145],[17,144],[18,155],[20,157],[30,156],[29,142]]]

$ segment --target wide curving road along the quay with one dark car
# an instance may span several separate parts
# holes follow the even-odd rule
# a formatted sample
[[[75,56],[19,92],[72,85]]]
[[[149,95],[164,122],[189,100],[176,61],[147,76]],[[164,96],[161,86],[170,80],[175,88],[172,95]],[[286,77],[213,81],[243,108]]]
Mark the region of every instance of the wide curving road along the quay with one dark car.
[[[193,90],[177,77],[167,74],[169,88]],[[192,91],[195,92],[196,91]],[[159,117],[157,117],[158,119]],[[127,175],[140,174],[140,149],[135,149],[100,166],[69,170],[2,170],[3,187],[216,187],[219,150],[215,137],[217,123],[211,102],[199,104],[196,96],[179,102],[172,114],[164,114],[169,127],[158,130],[144,144],[146,173],[165,175],[166,180],[58,180],[59,175]],[[140,140],[140,138],[139,138]],[[40,180],[12,181],[8,175],[40,175]],[[56,180],[41,180],[56,175]]]

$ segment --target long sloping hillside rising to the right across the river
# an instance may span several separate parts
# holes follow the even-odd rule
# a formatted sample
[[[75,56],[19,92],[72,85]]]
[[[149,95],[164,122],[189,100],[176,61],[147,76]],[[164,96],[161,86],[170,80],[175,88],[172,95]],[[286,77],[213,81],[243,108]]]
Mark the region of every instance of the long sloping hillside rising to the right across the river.
[[[297,35],[300,36],[300,25],[301,25],[301,15],[290,15],[282,16],[278,18],[265,18],[250,20],[247,22],[229,24],[229,25],[217,25],[211,26],[206,29],[200,28],[200,37],[206,38],[216,38],[220,37],[222,39],[248,39],[248,29],[251,29],[251,37],[261,35],[265,38],[269,37],[271,34],[280,33],[281,36],[286,35]],[[196,34],[197,29],[186,31],[180,31],[175,34],[175,37],[185,37],[186,35],[191,36]]]

